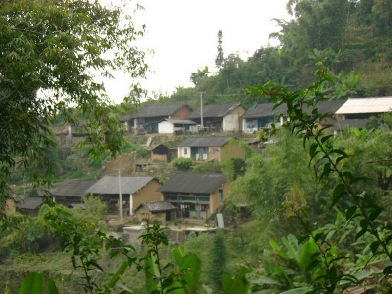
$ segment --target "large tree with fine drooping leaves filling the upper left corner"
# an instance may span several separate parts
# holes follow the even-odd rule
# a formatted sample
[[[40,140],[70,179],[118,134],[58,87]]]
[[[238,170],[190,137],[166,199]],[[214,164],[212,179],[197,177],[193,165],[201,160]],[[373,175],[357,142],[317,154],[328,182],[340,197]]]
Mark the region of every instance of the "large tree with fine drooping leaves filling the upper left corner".
[[[0,220],[12,169],[35,166],[34,183],[49,185],[53,164],[46,153],[55,142],[48,126],[58,116],[79,124],[71,107],[87,119],[81,127],[90,136],[81,145],[90,145],[91,155],[119,152],[122,128],[93,71],[145,75],[144,53],[134,46],[145,27],[135,27],[123,8],[98,0],[1,1]],[[141,93],[134,84],[127,100]]]

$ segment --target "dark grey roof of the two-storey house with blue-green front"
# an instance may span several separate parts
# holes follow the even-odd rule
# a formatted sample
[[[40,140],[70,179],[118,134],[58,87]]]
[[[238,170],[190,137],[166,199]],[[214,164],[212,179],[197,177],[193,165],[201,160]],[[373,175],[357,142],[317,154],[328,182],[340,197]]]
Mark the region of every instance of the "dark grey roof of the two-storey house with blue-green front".
[[[226,180],[226,176],[222,173],[177,173],[158,191],[211,194]]]

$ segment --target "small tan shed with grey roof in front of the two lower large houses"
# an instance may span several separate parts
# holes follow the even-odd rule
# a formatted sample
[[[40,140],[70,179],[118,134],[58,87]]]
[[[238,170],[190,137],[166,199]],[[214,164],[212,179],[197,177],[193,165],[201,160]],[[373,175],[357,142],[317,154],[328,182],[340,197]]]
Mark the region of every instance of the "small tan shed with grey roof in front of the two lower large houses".
[[[177,208],[169,201],[142,202],[135,209],[135,214],[142,221],[173,221],[176,219]]]

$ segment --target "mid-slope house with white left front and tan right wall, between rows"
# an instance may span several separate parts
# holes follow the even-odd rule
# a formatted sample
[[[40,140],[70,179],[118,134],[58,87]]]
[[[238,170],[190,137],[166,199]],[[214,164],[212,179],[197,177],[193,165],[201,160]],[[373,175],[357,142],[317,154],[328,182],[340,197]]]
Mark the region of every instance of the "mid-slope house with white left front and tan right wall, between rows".
[[[188,137],[177,145],[178,157],[192,158],[196,161],[222,162],[230,157],[244,157],[245,152],[239,146],[229,146],[229,140],[235,137]]]

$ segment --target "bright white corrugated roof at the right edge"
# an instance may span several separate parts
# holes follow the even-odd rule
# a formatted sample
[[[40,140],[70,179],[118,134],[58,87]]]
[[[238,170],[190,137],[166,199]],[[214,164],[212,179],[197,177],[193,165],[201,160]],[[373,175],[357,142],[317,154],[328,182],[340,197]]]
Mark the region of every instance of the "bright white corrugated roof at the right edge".
[[[388,97],[369,97],[369,98],[350,98],[342,107],[340,107],[337,114],[350,113],[379,113],[389,112],[392,110],[392,96]]]

